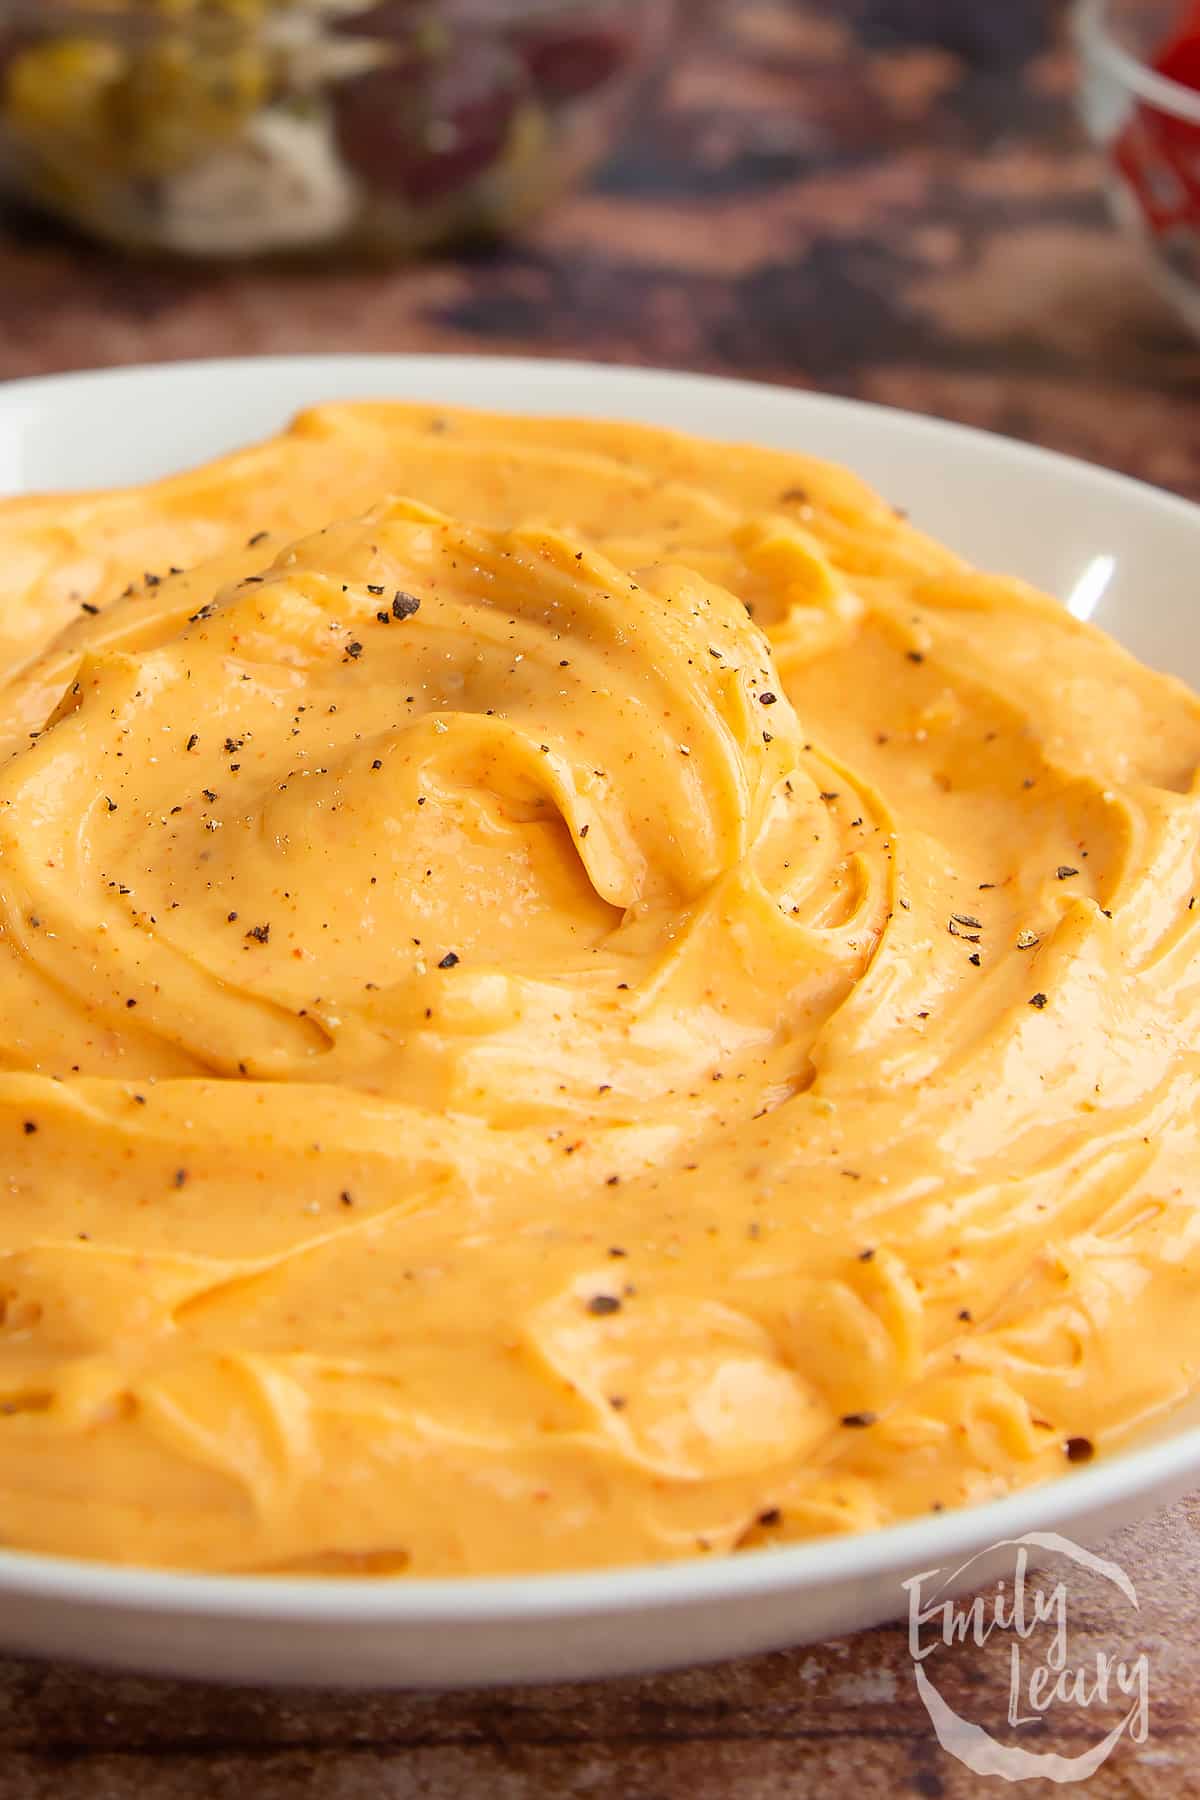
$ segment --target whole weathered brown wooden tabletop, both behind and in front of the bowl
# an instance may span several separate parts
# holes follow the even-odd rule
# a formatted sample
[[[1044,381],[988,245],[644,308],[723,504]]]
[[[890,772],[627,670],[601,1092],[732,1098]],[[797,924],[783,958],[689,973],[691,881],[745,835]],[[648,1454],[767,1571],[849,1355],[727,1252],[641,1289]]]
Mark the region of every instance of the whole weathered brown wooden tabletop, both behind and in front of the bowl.
[[[1052,0],[730,0],[714,14],[608,173],[502,252],[196,274],[0,225],[0,378],[259,351],[594,356],[914,407],[1200,499],[1200,346],[1108,227]],[[1070,1582],[1083,1649],[1151,1663],[1150,1737],[1087,1784],[1101,1800],[1200,1793],[1198,1532],[1200,1499],[1110,1546],[1137,1584],[1132,1633],[1103,1579]],[[952,1703],[984,1719],[1002,1690],[991,1645],[959,1649]],[[1067,1710],[1038,1748],[1094,1737]],[[999,1786],[937,1748],[903,1627],[655,1679],[416,1697],[0,1661],[0,1800],[957,1800]]]

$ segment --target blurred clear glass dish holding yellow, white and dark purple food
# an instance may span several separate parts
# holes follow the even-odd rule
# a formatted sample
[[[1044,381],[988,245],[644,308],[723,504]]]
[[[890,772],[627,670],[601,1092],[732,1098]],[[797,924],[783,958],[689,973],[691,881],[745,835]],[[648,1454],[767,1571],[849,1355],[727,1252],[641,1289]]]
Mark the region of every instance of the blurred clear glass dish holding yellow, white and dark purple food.
[[[0,0],[0,193],[131,250],[416,254],[606,155],[675,0]]]

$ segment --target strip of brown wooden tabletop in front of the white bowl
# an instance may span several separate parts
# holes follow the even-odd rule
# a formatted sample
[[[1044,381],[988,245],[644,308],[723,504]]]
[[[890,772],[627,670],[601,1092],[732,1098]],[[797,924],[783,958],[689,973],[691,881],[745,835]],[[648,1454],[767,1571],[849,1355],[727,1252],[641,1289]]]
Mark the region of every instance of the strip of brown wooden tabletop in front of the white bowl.
[[[1070,1658],[1150,1658],[1150,1737],[1123,1742],[1092,1800],[1200,1793],[1200,1501],[1110,1541],[1139,1609],[1072,1571]],[[1002,1726],[1007,1642],[937,1665],[946,1699]],[[1106,1723],[1112,1717],[1106,1715]],[[1058,1708],[1033,1742],[1076,1755],[1094,1717]],[[968,1800],[937,1750],[907,1627],[649,1679],[475,1694],[209,1688],[0,1661],[0,1800]],[[1049,1782],[1022,1789],[1047,1796]]]

